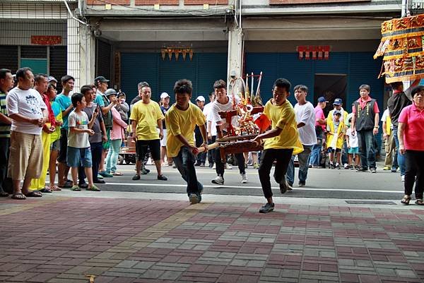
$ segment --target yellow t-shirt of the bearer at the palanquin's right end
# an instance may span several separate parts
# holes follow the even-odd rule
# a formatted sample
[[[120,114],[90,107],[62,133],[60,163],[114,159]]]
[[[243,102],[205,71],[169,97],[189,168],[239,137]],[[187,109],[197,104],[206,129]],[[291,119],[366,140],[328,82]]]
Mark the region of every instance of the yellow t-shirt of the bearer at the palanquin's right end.
[[[280,106],[271,101],[266,102],[264,114],[271,120],[272,128],[281,128],[283,131],[279,136],[265,139],[264,150],[293,148],[293,155],[297,155],[303,151],[303,146],[299,140],[295,110],[288,100]]]

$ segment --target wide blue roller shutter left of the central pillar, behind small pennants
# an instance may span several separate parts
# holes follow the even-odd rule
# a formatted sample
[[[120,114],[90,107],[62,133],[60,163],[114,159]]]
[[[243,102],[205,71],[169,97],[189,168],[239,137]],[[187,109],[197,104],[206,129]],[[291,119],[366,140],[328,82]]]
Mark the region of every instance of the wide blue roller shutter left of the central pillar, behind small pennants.
[[[171,61],[167,56],[162,59],[160,54],[153,53],[121,54],[121,88],[129,97],[127,100],[137,95],[137,84],[146,80],[151,84],[153,100],[158,101],[160,93],[167,92],[173,103],[173,88],[181,78],[192,80],[193,102],[198,95],[208,100],[207,95],[213,90],[213,82],[220,78],[225,80],[226,77],[226,53],[195,53],[192,61],[188,54],[185,61],[181,54],[178,60],[173,55]]]

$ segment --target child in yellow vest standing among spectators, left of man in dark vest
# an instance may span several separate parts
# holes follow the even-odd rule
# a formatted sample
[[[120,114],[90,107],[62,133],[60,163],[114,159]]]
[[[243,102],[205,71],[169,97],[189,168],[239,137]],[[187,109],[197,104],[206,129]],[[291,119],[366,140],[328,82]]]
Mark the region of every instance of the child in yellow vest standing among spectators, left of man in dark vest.
[[[340,169],[341,149],[343,148],[345,124],[341,119],[341,112],[334,110],[333,119],[327,119],[327,145],[330,159],[330,169]],[[336,165],[334,165],[334,152],[336,152]]]

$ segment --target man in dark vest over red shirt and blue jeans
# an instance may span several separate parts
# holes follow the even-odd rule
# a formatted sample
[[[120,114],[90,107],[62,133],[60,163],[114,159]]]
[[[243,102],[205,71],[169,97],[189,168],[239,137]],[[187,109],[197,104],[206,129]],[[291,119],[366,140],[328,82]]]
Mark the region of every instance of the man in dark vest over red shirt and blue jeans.
[[[358,132],[361,168],[364,172],[370,168],[371,173],[377,173],[375,164],[374,136],[378,133],[379,109],[377,100],[370,97],[370,85],[360,85],[360,97],[352,107],[351,132]]]

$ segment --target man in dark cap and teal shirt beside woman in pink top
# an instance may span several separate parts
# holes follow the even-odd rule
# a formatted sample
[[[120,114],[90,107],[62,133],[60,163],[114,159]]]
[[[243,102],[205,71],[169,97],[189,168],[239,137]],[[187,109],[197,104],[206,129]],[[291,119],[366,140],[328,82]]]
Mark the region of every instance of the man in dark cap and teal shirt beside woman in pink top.
[[[104,76],[98,76],[94,79],[94,85],[97,88],[94,103],[98,104],[102,110],[103,122],[105,123],[107,135],[107,141],[103,142],[103,152],[102,159],[100,159],[99,174],[100,176],[111,178],[113,175],[105,171],[105,158],[107,155],[107,150],[109,150],[110,147],[110,131],[112,130],[113,126],[112,112],[110,112],[110,109],[112,109],[112,107],[118,103],[118,100],[117,97],[114,97],[113,101],[107,99],[105,95],[105,91],[107,90],[107,83],[109,83],[109,80],[107,80]]]

